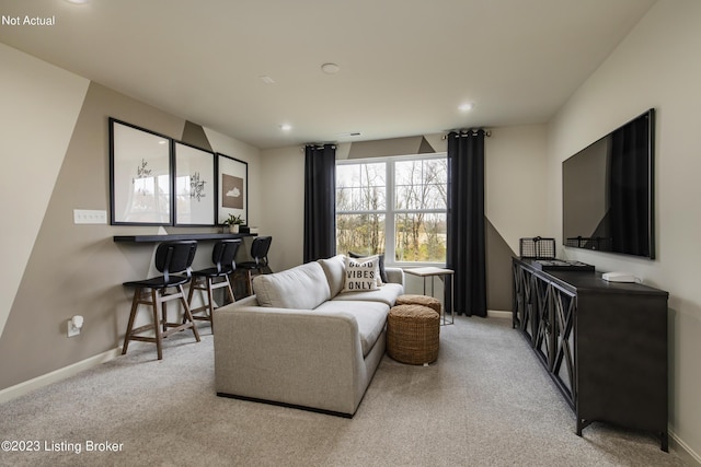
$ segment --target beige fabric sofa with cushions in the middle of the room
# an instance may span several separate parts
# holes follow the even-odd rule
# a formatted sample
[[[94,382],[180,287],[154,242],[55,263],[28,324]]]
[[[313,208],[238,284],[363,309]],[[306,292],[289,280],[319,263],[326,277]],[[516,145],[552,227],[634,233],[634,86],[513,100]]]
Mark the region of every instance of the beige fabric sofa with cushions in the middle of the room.
[[[255,295],[215,310],[217,395],[353,417],[404,292],[404,272],[386,272],[361,292],[342,292],[342,255],[257,276]]]

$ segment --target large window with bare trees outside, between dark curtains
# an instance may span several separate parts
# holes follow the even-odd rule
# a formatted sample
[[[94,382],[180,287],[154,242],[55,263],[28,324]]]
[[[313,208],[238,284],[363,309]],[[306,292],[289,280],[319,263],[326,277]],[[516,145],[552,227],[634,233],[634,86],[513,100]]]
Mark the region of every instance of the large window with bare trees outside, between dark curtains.
[[[446,261],[445,154],[336,163],[336,250]]]

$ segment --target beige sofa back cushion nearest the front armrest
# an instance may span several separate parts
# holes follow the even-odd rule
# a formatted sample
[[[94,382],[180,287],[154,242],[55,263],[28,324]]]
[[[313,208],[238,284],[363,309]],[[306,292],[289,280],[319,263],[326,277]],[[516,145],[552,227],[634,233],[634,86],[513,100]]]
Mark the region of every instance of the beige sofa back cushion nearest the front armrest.
[[[261,306],[313,310],[331,299],[326,276],[319,262],[308,262],[281,272],[253,278]]]

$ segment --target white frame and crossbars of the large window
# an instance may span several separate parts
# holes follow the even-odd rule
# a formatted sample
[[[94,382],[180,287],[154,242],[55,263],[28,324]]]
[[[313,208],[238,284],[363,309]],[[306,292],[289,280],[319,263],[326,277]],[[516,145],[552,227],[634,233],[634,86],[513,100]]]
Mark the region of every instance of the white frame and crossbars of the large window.
[[[344,159],[336,160],[336,167],[340,165],[359,165],[359,164],[384,164],[384,209],[383,210],[350,210],[350,211],[338,211],[336,209],[335,217],[338,214],[381,214],[384,215],[384,264],[387,266],[395,266],[395,267],[422,267],[422,266],[443,266],[445,267],[446,261],[398,261],[397,250],[395,250],[395,217],[397,214],[404,213],[417,213],[423,212],[427,214],[444,214],[446,219],[448,217],[448,206],[446,202],[445,209],[397,209],[395,208],[395,179],[394,179],[394,164],[397,162],[407,162],[407,161],[429,161],[429,160],[438,160],[448,159],[448,154],[446,152],[436,152],[430,154],[411,154],[411,155],[390,155],[390,156],[380,156],[380,157],[365,157],[365,159]],[[446,173],[446,185],[448,184],[448,174]],[[337,189],[337,187],[334,187]],[[391,234],[390,234],[391,233]],[[391,242],[388,241],[391,238]],[[337,241],[336,241],[337,242]],[[344,253],[345,254],[345,253]]]

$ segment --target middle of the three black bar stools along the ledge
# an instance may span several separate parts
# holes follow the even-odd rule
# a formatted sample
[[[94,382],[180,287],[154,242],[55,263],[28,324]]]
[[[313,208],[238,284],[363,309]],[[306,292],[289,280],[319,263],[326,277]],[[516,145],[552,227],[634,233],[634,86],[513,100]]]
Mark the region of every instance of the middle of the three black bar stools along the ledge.
[[[231,302],[237,301],[233,296],[233,290],[231,290],[229,275],[232,275],[237,269],[234,258],[240,246],[240,240],[222,240],[217,242],[211,250],[211,262],[215,266],[212,268],[193,271],[193,281],[189,284],[189,293],[187,294],[187,305],[192,306],[195,290],[206,292],[207,297],[203,299],[205,304],[197,308],[191,308],[191,313],[193,314],[193,319],[210,322],[212,334],[215,331],[212,320],[215,312],[214,291],[223,288]],[[205,313],[204,316],[195,315],[202,312]]]

